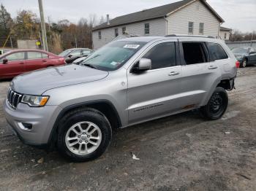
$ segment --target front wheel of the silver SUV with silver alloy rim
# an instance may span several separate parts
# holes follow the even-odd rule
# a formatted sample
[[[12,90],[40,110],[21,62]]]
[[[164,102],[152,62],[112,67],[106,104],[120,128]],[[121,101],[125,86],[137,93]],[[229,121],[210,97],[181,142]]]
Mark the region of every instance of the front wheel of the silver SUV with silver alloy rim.
[[[57,147],[69,160],[85,162],[100,157],[111,139],[110,122],[104,114],[96,109],[76,109],[59,123]]]

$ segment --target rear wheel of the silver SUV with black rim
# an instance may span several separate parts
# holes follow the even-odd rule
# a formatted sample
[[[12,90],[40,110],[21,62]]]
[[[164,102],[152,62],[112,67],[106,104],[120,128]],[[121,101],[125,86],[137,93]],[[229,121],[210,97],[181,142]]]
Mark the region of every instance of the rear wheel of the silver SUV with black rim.
[[[217,87],[208,104],[200,108],[200,112],[208,120],[218,120],[225,113],[227,105],[228,96],[226,90],[223,87]]]

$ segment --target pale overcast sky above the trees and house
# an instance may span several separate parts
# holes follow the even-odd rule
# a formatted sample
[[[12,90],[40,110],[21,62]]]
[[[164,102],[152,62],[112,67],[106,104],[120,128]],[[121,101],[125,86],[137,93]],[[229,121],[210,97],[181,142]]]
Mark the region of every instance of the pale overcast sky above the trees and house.
[[[67,19],[77,23],[80,17],[90,14],[110,15],[110,18],[137,12],[142,9],[169,4],[178,0],[43,0],[45,17],[57,21]],[[222,26],[240,31],[256,30],[256,0],[207,0],[225,20]],[[20,9],[30,9],[39,16],[37,0],[1,0],[15,17]]]

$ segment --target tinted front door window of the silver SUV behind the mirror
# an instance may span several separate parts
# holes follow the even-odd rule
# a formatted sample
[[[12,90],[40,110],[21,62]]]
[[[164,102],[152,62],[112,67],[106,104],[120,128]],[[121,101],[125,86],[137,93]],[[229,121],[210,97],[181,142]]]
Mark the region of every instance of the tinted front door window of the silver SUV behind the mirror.
[[[152,47],[143,58],[151,59],[151,69],[176,66],[176,49],[174,42],[165,42]]]

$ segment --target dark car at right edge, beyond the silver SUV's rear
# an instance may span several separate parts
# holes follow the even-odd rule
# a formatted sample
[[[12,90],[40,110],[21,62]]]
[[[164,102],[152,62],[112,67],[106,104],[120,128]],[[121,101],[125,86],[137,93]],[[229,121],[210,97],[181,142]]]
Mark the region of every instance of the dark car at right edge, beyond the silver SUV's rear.
[[[232,52],[240,62],[240,68],[256,64],[256,50],[254,47],[236,47]]]

